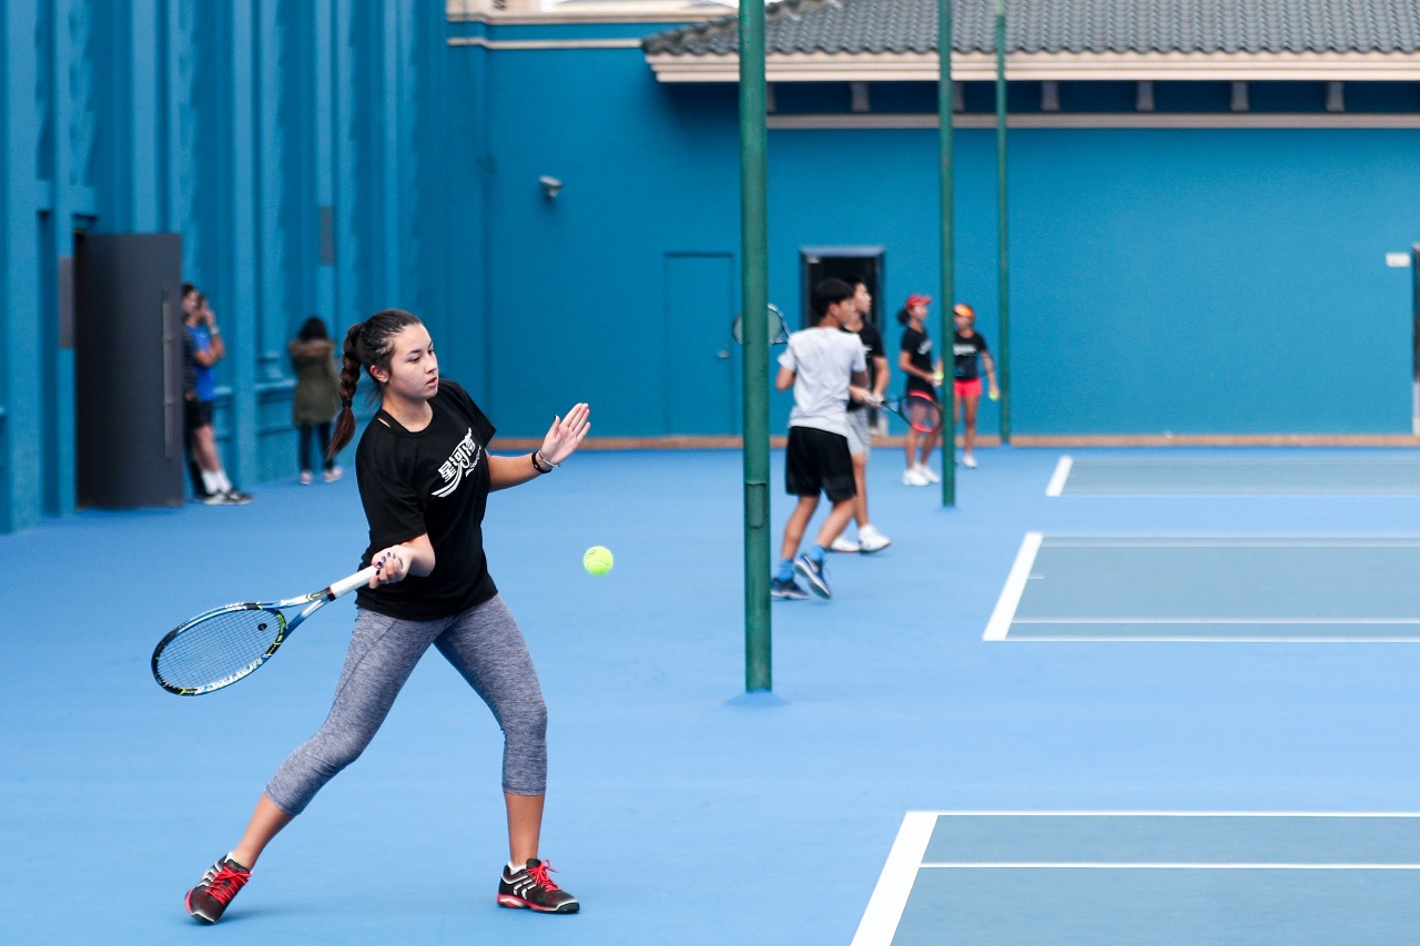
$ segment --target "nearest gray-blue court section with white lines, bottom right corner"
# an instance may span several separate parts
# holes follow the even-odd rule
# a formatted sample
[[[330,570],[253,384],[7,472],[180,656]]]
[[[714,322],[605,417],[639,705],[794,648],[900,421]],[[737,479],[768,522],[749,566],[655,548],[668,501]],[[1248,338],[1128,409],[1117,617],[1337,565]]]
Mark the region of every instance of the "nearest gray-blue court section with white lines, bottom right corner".
[[[1399,814],[913,811],[852,946],[1396,942],[1417,841]]]

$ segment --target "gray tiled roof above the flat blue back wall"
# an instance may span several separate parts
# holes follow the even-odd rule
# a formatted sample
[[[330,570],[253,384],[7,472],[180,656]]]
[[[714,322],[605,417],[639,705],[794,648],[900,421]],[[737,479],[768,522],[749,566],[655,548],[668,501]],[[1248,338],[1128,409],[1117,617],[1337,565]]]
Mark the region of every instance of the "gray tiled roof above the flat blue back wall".
[[[954,0],[953,48],[995,51],[995,1]],[[785,0],[770,53],[934,53],[937,0]],[[648,37],[649,54],[730,54],[738,17]],[[1020,53],[1414,53],[1417,0],[1007,0]]]

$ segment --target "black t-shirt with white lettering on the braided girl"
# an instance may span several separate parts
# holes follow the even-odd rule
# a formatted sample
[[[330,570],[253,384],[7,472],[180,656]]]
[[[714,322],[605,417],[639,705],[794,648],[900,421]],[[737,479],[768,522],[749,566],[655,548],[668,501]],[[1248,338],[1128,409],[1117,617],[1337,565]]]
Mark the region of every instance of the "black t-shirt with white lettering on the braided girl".
[[[381,411],[355,452],[359,497],[369,520],[369,548],[361,567],[389,545],[429,534],[435,570],[379,588],[361,588],[361,608],[405,621],[447,618],[498,592],[483,554],[483,511],[488,506],[493,423],[467,392],[439,379],[435,416],[423,430],[406,430]],[[388,423],[388,426],[386,426]]]

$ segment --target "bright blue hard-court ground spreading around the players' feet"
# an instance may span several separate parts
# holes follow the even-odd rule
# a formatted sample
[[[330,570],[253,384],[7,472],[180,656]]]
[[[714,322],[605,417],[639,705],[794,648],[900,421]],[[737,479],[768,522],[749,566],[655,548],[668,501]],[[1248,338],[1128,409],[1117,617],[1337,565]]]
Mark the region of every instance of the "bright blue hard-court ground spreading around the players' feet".
[[[964,827],[950,835],[941,825],[923,862],[976,866],[916,871],[889,942],[1041,942],[1012,930],[1049,923],[1078,933],[1047,942],[1189,942],[1150,940],[1156,928],[1267,942],[1248,923],[1304,916],[1335,930],[1358,905],[1367,925],[1331,942],[1414,939],[1414,872],[1396,868],[1413,862],[1407,818],[1367,821],[1366,838],[1349,834],[1359,818],[1278,818],[1265,835],[1200,820],[1218,832],[1207,849],[1177,825],[1145,832],[1123,817],[1089,831],[1074,822],[1069,841],[1069,822],[1049,814],[1414,811],[1414,646],[981,638],[1030,533],[1096,543],[1054,550],[1081,558],[1052,614],[1068,602],[1086,616],[1157,605],[1130,584],[1181,581],[1179,555],[1206,551],[1177,543],[1191,535],[1235,540],[1223,550],[1241,557],[1233,571],[1272,588],[1250,605],[1221,585],[1228,570],[1190,571],[1183,599],[1217,601],[1217,615],[1291,604],[1282,616],[1407,616],[1420,499],[1062,501],[1044,490],[1059,453],[978,459],[958,472],[958,506],[943,510],[932,490],[900,484],[896,450],[875,452],[873,521],[893,544],[832,557],[834,601],[775,605],[770,697],[743,695],[737,452],[585,452],[555,477],[493,496],[493,574],[551,713],[544,851],[582,899],[577,916],[494,905],[501,737],[437,655],[365,756],[271,845],[223,922],[199,929],[183,912],[183,892],[230,849],[273,768],[324,719],[352,607],[331,605],[270,665],[209,696],[162,692],[149,655],[190,614],[351,571],[365,530],[349,479],[268,484],[243,507],[80,513],[3,535],[0,940],[846,946],[872,913],[905,814],[920,811],[1047,814],[1024,827],[953,820]],[[781,462],[775,453],[775,531],[788,509]],[[1173,544],[1109,544],[1120,537]],[[1274,545],[1250,547],[1257,537]],[[1366,548],[1348,545],[1358,537]],[[616,554],[605,578],[582,571],[592,544]],[[1098,570],[1083,555],[1118,555],[1129,584],[1082,591]],[[1359,565],[1309,588],[1349,561]],[[1323,608],[1322,591],[1348,575],[1367,578],[1376,609],[1362,611],[1359,592]],[[1047,815],[1054,834],[1039,827]],[[1323,837],[1319,824],[1340,827]],[[1125,857],[1346,869],[1076,866]],[[1024,861],[1071,866],[980,866]],[[1082,903],[1098,909],[1081,918]],[[1180,916],[1160,919],[1160,905]]]

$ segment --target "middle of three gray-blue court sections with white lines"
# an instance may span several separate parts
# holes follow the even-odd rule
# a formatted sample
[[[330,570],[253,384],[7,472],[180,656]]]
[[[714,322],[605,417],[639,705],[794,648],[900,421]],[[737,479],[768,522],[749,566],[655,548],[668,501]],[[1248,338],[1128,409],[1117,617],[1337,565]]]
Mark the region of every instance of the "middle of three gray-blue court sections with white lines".
[[[1416,641],[1420,537],[1021,543],[987,641]]]

